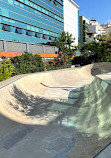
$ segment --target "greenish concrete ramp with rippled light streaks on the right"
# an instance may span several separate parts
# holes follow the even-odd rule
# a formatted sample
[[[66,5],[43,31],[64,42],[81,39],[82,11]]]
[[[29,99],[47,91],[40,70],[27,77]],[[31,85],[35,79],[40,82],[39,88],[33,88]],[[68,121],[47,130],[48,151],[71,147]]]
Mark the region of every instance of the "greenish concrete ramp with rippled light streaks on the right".
[[[68,102],[74,106],[74,126],[89,135],[111,135],[111,84],[95,77],[90,85],[72,90]]]

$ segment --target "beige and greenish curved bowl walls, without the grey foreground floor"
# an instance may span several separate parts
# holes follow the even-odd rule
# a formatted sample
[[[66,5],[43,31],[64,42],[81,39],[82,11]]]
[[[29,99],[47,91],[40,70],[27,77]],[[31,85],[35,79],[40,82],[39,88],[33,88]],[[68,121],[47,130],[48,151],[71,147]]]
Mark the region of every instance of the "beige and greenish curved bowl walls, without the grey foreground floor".
[[[60,120],[88,135],[109,136],[110,84],[91,75],[101,64],[29,74],[5,84],[0,89],[0,113],[22,124],[47,125]]]

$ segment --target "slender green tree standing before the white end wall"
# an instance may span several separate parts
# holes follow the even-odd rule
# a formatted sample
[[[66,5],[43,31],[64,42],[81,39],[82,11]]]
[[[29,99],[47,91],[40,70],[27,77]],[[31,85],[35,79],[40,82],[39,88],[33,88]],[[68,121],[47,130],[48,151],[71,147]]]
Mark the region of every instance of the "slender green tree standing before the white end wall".
[[[55,45],[59,48],[59,58],[62,58],[65,65],[67,59],[69,61],[69,59],[74,55],[74,41],[75,39],[72,38],[72,34],[64,31],[61,33],[60,37],[54,40]]]

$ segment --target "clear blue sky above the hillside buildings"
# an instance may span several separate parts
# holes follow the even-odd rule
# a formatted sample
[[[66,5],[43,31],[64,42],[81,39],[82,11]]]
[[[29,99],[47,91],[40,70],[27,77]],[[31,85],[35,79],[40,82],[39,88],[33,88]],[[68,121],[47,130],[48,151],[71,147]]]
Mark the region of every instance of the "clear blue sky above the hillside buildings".
[[[79,5],[79,15],[94,17],[100,24],[111,20],[111,0],[74,0]]]

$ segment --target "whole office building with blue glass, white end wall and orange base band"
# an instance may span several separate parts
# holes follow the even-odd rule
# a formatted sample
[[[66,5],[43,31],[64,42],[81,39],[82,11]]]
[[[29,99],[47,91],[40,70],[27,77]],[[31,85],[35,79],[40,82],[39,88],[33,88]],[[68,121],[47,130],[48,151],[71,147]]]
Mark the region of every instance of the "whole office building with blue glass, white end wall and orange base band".
[[[77,26],[78,6],[72,0],[0,0],[0,56],[28,51],[56,57],[57,48],[47,43],[68,31],[77,45]]]

